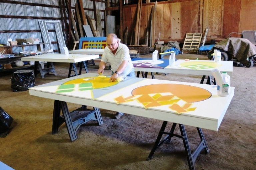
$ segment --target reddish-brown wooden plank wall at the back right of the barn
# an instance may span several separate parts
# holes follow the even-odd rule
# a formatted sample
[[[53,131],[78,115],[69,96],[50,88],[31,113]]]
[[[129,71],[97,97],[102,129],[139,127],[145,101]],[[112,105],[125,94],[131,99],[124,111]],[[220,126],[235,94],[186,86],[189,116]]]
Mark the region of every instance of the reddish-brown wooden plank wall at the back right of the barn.
[[[142,4],[140,44],[150,28],[151,8],[155,3]],[[207,42],[228,37],[231,32],[256,30],[255,0],[173,0],[157,2],[155,9],[155,41],[183,42],[186,33],[204,33],[209,27]],[[136,24],[137,5],[123,6],[123,31],[128,27],[130,42]],[[148,30],[150,31],[150,30]]]

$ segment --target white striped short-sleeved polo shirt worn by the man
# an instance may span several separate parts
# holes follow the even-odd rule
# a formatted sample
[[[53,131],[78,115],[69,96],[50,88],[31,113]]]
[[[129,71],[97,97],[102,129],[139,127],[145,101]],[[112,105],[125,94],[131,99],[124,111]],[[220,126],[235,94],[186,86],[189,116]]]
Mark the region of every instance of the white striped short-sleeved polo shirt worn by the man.
[[[125,68],[125,70],[123,71],[122,75],[127,75],[132,71],[133,64],[132,64],[132,60],[130,57],[129,48],[123,43],[119,43],[115,55],[108,48],[108,46],[106,46],[104,49],[104,52],[102,54],[102,57],[101,57],[101,61],[103,61],[105,63],[107,63],[107,62],[110,63],[111,70],[113,72],[115,72],[118,69],[118,67],[124,60],[127,60],[128,64],[127,64],[127,67]]]

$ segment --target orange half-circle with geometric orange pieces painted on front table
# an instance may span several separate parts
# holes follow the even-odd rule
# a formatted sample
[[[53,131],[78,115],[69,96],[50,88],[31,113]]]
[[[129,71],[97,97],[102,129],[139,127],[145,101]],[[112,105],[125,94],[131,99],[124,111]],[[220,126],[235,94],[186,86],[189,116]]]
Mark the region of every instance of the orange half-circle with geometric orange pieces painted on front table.
[[[145,109],[168,105],[177,114],[196,110],[194,102],[209,99],[212,94],[202,88],[183,84],[152,84],[132,91],[132,96],[115,98],[117,104],[137,101]]]

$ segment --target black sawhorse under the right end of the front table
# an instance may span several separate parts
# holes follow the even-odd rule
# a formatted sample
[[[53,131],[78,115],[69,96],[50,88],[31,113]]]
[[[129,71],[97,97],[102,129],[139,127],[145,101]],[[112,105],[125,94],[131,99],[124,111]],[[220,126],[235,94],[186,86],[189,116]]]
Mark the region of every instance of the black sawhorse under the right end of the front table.
[[[173,133],[174,129],[175,129],[176,125],[177,125],[176,123],[173,123],[170,132],[165,132],[164,131],[165,128],[166,128],[166,125],[167,125],[167,122],[164,121],[163,124],[162,124],[162,127],[161,127],[161,129],[159,131],[159,134],[158,134],[158,136],[156,138],[155,144],[154,144],[151,152],[148,155],[147,160],[150,160],[150,159],[153,158],[153,154],[155,153],[155,151],[156,151],[156,149],[158,147],[160,147],[163,143],[165,143],[167,141],[170,142],[171,138],[173,136],[175,136],[175,137],[182,138],[183,144],[184,144],[184,147],[185,147],[185,151],[186,151],[186,155],[187,155],[187,159],[188,159],[189,169],[190,170],[195,170],[194,163],[195,163],[195,160],[196,160],[197,156],[200,154],[200,152],[203,149],[205,149],[206,153],[210,152],[210,149],[208,148],[208,146],[206,144],[206,140],[204,138],[204,134],[203,134],[202,129],[201,128],[197,128],[198,134],[200,136],[200,142],[197,145],[196,149],[191,153],[191,149],[190,149],[190,146],[189,146],[188,137],[187,137],[187,133],[186,133],[184,125],[179,124],[181,135]],[[163,138],[163,140],[161,140],[163,134],[167,134],[167,136],[165,136]]]

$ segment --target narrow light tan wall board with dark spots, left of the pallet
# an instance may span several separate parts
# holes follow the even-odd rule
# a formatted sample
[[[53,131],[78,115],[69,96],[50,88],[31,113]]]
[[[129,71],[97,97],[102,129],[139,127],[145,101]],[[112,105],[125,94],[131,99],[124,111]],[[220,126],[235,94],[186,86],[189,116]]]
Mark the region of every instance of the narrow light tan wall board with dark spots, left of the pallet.
[[[172,3],[172,15],[171,15],[171,21],[172,21],[172,39],[180,39],[180,17],[181,17],[181,5],[180,2]]]

